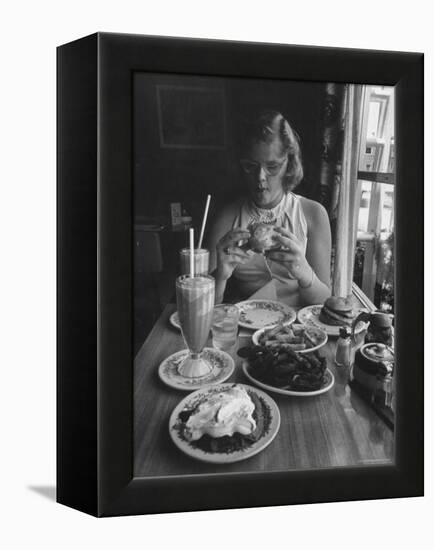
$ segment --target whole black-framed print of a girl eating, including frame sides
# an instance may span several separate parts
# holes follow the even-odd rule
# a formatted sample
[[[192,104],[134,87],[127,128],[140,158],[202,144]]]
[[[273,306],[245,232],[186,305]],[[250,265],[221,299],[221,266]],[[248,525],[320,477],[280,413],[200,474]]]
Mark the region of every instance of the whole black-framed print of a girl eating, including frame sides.
[[[58,501],[423,494],[423,55],[58,48]]]

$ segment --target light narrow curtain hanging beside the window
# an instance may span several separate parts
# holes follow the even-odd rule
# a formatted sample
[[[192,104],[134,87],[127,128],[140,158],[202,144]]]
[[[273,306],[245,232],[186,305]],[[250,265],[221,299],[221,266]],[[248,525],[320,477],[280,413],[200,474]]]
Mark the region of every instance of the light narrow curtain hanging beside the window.
[[[333,295],[352,292],[354,251],[357,239],[358,193],[357,170],[361,138],[363,86],[348,84],[345,94],[344,150],[338,186],[336,245],[333,270]]]

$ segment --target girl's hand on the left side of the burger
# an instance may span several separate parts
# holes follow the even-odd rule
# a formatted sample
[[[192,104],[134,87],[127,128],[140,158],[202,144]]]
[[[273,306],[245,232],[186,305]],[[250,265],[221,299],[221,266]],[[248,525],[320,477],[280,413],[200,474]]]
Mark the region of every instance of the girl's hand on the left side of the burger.
[[[242,241],[241,244],[244,244],[249,238],[249,231],[232,229],[219,240],[216,246],[216,278],[226,281],[238,265],[244,264],[250,259],[251,253],[240,248],[240,242]]]

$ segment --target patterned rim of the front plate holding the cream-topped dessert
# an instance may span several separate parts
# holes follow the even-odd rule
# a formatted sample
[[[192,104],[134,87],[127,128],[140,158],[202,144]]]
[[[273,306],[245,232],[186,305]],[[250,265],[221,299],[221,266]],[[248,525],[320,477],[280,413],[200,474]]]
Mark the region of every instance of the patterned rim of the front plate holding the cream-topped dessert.
[[[219,386],[227,387],[232,386],[234,384],[232,383],[226,383],[226,384],[219,384]],[[212,387],[204,387],[201,388],[186,397],[182,399],[178,405],[173,409],[172,414],[170,415],[169,419],[169,434],[174,442],[174,444],[186,455],[190,456],[191,458],[194,458],[196,460],[200,460],[201,462],[208,462],[213,464],[231,464],[233,462],[240,462],[241,460],[245,460],[247,458],[250,458],[261,451],[263,451],[266,447],[268,447],[276,435],[279,432],[280,428],[280,411],[279,407],[277,406],[277,403],[274,401],[274,399],[263,392],[262,390],[249,386],[248,384],[235,384],[237,386],[242,386],[247,391],[254,392],[258,397],[262,398],[265,403],[268,405],[271,411],[271,424],[268,434],[263,435],[258,441],[252,444],[251,447],[247,449],[243,449],[241,451],[234,451],[232,454],[228,453],[206,453],[205,451],[202,451],[201,449],[195,449],[194,447],[191,447],[187,441],[179,437],[177,434],[175,428],[173,427],[175,425],[175,422],[178,418],[178,415],[180,411],[184,408],[184,406],[188,403],[190,399],[194,399],[197,395],[199,395],[200,392],[206,392],[209,390],[214,390],[215,388],[218,388],[218,386],[212,386]],[[217,390],[216,390],[217,391]]]

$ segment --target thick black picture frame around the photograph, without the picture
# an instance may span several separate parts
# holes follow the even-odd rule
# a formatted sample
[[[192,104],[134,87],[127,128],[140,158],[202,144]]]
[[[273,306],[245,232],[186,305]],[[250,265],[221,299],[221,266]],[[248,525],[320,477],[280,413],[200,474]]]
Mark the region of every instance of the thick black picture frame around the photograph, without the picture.
[[[57,500],[114,516],[423,494],[423,55],[97,33],[58,48]],[[132,74],[396,90],[396,464],[133,477]]]

